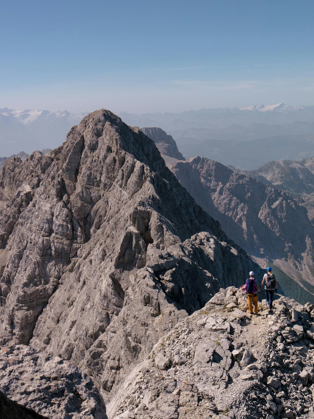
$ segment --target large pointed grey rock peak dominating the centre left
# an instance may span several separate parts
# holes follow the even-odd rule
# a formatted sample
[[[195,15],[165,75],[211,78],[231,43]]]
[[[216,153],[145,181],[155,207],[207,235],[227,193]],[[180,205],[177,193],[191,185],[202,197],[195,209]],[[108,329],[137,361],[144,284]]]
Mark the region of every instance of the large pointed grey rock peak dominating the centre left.
[[[110,111],[8,159],[0,208],[1,343],[74,362],[106,400],[177,321],[259,272]]]

